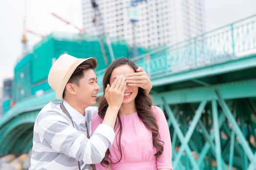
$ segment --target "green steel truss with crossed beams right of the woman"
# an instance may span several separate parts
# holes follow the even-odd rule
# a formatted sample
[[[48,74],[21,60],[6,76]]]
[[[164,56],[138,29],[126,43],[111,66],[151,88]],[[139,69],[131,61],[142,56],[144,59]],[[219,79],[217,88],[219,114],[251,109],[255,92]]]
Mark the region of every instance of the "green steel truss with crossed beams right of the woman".
[[[256,79],[153,97],[167,113],[174,170],[256,169]]]

